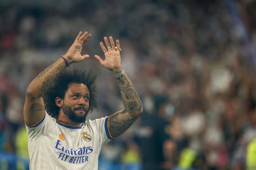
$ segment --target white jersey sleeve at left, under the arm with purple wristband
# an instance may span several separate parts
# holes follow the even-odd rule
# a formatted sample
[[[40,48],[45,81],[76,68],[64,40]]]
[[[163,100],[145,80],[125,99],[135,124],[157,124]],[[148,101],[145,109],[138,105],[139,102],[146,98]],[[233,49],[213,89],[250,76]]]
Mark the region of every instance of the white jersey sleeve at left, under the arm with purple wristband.
[[[28,125],[25,122],[29,140],[35,140],[38,136],[46,133],[47,129],[49,129],[49,126],[53,125],[54,122],[55,119],[48,115],[47,112],[45,112],[45,116],[43,116],[43,118],[35,125]]]

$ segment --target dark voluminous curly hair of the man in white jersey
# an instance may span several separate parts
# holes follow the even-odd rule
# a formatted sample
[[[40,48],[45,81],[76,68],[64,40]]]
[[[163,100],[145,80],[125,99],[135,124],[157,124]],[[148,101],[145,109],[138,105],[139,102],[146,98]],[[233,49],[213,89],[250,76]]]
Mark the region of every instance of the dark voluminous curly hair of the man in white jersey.
[[[92,69],[87,72],[85,69],[75,68],[72,71],[63,71],[53,80],[49,88],[43,94],[43,101],[45,102],[46,112],[57,119],[59,116],[59,107],[55,104],[55,98],[65,98],[65,93],[68,91],[70,83],[82,83],[87,86],[90,92],[88,112],[92,112],[93,108],[98,108],[96,99],[96,84],[95,79],[97,75],[93,74]]]

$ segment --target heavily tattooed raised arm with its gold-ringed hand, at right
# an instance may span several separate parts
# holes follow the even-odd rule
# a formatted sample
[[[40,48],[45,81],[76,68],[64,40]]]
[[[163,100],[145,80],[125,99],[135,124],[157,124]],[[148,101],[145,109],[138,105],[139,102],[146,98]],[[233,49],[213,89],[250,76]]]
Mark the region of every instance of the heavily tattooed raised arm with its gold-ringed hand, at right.
[[[105,60],[102,60],[98,55],[95,55],[95,58],[103,67],[109,69],[113,75],[116,75],[123,70],[121,67],[121,50],[111,50],[111,48],[115,48],[115,43],[112,37],[109,37],[109,40],[110,44],[108,39],[104,37],[108,50],[102,42],[100,43],[101,48],[105,53]],[[116,40],[116,47],[117,49],[120,49],[119,40]],[[109,132],[114,138],[124,133],[143,112],[140,98],[127,74],[120,76],[117,79],[117,82],[121,91],[124,109],[109,116]]]

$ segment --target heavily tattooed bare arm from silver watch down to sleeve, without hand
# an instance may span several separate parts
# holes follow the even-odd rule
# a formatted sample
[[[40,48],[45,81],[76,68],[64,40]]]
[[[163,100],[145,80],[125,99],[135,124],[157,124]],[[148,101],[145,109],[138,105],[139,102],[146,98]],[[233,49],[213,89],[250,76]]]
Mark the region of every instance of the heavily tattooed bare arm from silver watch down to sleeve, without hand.
[[[112,137],[124,133],[142,113],[140,98],[126,74],[118,79],[118,85],[124,103],[124,110],[109,116],[109,132]]]

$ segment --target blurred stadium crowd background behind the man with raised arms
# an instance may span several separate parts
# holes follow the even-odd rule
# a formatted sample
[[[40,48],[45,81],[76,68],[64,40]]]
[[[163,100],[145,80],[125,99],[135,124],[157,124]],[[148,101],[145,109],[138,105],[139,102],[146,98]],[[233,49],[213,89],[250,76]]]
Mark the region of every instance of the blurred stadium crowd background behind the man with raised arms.
[[[99,170],[256,170],[256,0],[1,0],[0,169],[28,169],[25,92],[92,37],[75,67],[98,73],[99,109],[122,109],[118,85],[93,55],[119,39],[144,113],[106,144]],[[69,68],[68,68],[69,69]]]

